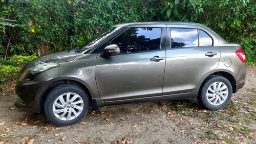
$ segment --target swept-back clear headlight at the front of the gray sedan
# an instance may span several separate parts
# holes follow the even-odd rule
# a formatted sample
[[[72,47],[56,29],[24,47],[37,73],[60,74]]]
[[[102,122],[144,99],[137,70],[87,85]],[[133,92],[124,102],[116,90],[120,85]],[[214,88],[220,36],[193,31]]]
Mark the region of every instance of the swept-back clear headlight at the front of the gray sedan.
[[[59,66],[59,64],[54,62],[31,66],[23,71],[23,73],[19,76],[18,81],[32,81],[38,74],[57,66]]]

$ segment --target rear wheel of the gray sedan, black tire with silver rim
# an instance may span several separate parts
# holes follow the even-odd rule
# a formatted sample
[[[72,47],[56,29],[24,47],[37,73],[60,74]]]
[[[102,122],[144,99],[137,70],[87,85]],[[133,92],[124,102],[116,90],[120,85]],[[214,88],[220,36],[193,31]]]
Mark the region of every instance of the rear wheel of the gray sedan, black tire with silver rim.
[[[209,110],[224,108],[232,97],[231,83],[222,76],[211,76],[202,84],[198,101]]]

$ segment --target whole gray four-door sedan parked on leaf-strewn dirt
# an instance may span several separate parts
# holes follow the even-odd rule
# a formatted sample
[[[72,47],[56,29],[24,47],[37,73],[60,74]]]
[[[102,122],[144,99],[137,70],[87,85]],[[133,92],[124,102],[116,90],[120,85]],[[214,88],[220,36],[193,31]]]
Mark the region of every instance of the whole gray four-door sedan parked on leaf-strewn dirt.
[[[225,107],[245,84],[245,54],[199,23],[136,22],[112,26],[76,49],[28,63],[15,105],[45,111],[51,122],[79,122],[102,106],[195,99]]]

